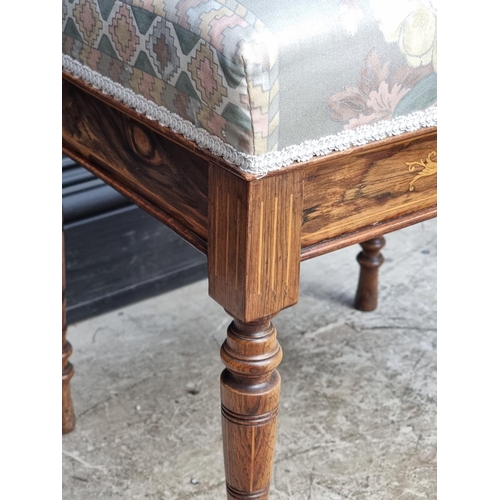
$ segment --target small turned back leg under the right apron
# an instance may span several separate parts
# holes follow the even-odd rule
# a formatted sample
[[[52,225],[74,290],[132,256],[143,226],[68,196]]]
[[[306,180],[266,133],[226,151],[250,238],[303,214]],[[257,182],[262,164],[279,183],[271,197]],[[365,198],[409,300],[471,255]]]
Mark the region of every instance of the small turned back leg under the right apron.
[[[361,243],[363,251],[358,254],[361,269],[354,301],[354,307],[360,311],[373,311],[377,308],[378,268],[384,263],[384,257],[380,253],[384,245],[383,236]]]

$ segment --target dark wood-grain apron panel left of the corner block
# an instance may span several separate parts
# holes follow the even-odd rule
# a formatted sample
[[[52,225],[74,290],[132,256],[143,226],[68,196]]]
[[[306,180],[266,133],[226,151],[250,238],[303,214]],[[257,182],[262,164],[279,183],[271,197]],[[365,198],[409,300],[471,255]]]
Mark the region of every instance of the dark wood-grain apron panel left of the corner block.
[[[63,79],[65,151],[207,239],[208,163]],[[136,201],[136,200],[134,200]],[[175,229],[175,228],[174,228]]]

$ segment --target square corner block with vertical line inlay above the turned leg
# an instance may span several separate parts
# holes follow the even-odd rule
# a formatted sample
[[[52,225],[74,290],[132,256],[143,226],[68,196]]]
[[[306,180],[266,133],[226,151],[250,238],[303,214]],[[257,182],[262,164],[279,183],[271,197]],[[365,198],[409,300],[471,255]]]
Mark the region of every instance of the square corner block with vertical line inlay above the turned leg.
[[[209,294],[254,321],[299,296],[302,171],[247,182],[210,168]]]

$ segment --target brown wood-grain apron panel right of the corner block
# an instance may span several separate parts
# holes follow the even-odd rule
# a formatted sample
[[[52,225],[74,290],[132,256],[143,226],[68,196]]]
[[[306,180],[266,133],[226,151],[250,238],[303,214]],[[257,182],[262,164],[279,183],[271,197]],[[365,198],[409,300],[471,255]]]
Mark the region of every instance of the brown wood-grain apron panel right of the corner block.
[[[407,162],[437,150],[436,129],[332,154],[304,166],[302,247],[436,206],[437,176]]]

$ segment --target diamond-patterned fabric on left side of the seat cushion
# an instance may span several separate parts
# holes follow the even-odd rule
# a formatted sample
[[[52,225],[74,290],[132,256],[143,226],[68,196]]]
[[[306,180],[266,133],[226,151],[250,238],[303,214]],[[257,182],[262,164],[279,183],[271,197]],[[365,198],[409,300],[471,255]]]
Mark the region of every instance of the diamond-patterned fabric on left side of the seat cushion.
[[[248,153],[277,147],[264,33],[231,0],[63,1],[64,54]]]

